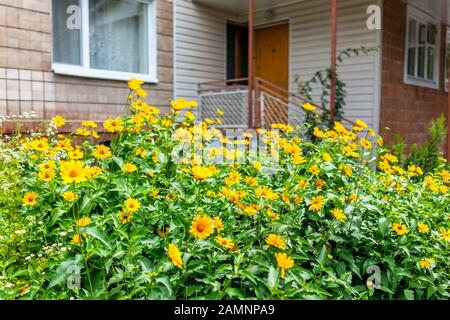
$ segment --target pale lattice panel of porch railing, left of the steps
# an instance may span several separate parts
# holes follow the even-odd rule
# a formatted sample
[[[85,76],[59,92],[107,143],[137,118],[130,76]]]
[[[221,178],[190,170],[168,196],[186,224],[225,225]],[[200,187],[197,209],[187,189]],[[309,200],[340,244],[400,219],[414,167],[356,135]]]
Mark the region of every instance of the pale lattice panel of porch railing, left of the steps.
[[[248,90],[205,92],[199,99],[199,118],[215,119],[217,109],[224,115],[220,117],[223,124],[218,128],[247,128],[248,124]]]

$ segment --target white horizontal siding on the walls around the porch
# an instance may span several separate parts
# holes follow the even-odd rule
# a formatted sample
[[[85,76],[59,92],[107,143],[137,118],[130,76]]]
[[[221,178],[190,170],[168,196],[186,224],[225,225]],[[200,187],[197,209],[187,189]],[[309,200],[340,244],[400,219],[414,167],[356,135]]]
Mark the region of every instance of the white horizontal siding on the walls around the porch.
[[[338,1],[338,52],[347,48],[376,47],[379,31],[366,27],[369,5],[374,0]],[[176,0],[175,15],[175,90],[177,96],[195,98],[196,83],[225,78],[226,13],[207,9],[186,0]],[[290,23],[290,91],[294,82],[309,79],[330,61],[330,1],[306,0],[273,8],[276,16],[266,21],[264,13],[255,13],[255,24],[289,20]],[[245,17],[243,13],[242,17]],[[245,18],[242,18],[243,21]],[[237,20],[234,18],[234,20]],[[378,127],[379,55],[346,59],[338,72],[347,84],[345,115],[360,118]],[[315,101],[319,101],[315,96]]]

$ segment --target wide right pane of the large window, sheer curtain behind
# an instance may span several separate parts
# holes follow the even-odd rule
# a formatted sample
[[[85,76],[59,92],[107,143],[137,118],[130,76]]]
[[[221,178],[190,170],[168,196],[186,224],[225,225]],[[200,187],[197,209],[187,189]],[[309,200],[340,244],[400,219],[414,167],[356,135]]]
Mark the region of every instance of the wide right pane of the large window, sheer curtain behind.
[[[148,73],[147,4],[89,1],[91,68]]]

